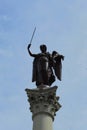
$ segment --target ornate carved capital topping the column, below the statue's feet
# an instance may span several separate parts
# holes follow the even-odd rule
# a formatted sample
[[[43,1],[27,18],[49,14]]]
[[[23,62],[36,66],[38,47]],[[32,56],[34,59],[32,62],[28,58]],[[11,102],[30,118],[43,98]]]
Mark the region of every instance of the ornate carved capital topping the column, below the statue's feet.
[[[56,112],[60,109],[61,105],[56,96],[57,86],[44,87],[36,89],[26,89],[28,102],[30,103],[30,111],[32,112],[32,119],[38,114],[48,115],[54,120]]]

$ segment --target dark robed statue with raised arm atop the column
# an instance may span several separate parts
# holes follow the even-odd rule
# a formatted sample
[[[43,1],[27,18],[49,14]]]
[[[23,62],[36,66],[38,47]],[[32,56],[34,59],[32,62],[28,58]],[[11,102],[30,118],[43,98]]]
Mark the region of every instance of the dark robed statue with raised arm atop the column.
[[[36,86],[48,85],[51,86],[55,81],[55,77],[61,81],[62,73],[62,60],[64,56],[53,51],[52,54],[47,52],[47,46],[45,44],[40,45],[41,53],[33,54],[30,51],[31,44],[27,49],[29,55],[34,57],[33,60],[33,72],[32,82],[36,82]]]

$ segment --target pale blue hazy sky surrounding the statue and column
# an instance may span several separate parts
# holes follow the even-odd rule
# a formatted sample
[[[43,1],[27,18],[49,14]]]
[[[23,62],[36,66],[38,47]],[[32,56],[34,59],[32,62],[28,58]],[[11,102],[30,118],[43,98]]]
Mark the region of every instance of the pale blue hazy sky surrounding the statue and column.
[[[36,88],[27,52],[35,27],[33,53],[44,43],[65,56],[53,129],[87,130],[86,0],[0,0],[0,129],[32,130],[25,89]]]

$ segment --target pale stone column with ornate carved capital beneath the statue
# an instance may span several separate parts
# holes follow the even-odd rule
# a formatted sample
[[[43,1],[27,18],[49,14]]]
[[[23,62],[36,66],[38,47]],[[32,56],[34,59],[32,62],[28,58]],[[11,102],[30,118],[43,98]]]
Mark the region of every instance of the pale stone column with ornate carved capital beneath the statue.
[[[41,86],[25,90],[32,112],[33,130],[53,130],[54,116],[61,107],[56,96],[57,88]]]

